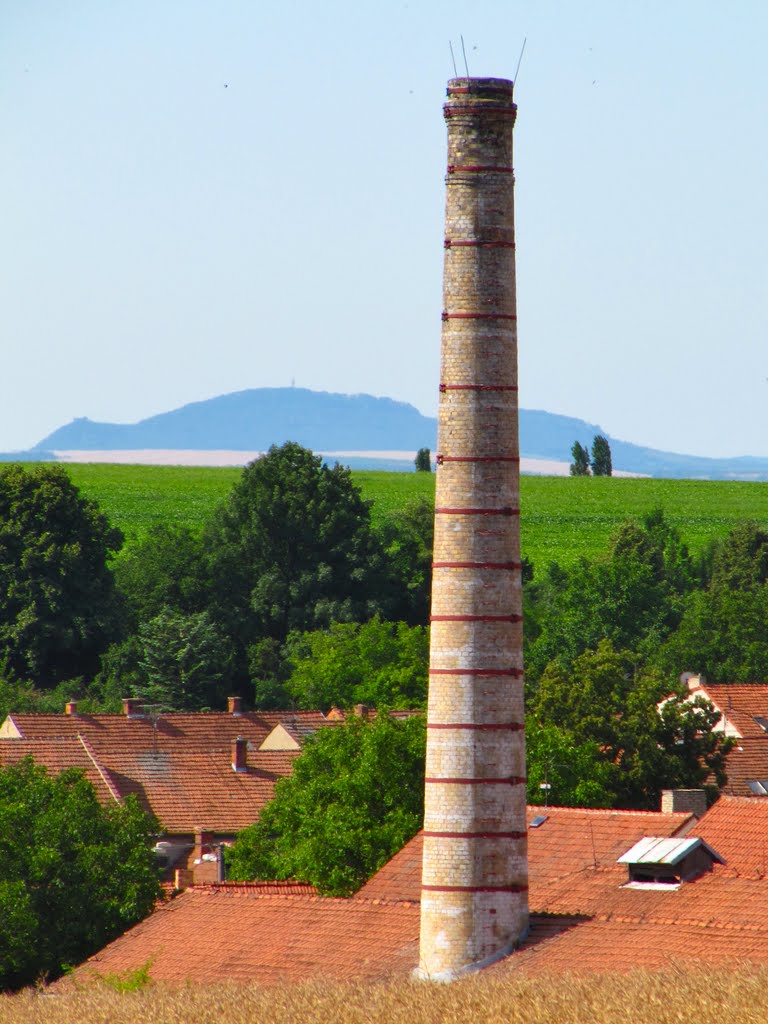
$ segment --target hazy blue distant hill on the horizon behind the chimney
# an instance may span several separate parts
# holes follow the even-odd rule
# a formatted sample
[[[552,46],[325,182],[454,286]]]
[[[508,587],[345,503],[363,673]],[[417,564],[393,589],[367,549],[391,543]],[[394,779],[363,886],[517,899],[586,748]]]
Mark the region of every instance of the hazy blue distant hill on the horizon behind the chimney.
[[[585,420],[520,411],[520,453],[525,458],[567,462],[574,440],[590,445],[599,433],[610,441],[616,470],[655,477],[768,480],[768,458],[705,459],[658,452],[610,437],[600,426]],[[422,446],[434,452],[437,420],[422,416],[407,402],[370,394],[252,388],[191,402],[138,423],[73,420],[31,452],[17,453],[14,458],[40,459],[50,452],[68,450],[261,452],[286,440],[317,452],[410,452]]]

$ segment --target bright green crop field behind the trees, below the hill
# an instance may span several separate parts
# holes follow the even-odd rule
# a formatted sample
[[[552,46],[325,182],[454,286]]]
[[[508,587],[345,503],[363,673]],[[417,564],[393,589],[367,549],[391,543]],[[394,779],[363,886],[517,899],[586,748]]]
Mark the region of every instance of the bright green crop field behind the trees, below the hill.
[[[83,493],[120,526],[128,543],[155,522],[199,529],[241,473],[178,466],[67,469]],[[434,493],[432,474],[359,471],[353,476],[374,502],[375,522],[419,495]],[[741,519],[756,519],[768,527],[768,483],[523,476],[521,490],[522,550],[535,565],[593,557],[605,550],[621,522],[654,508],[665,510],[693,552],[724,537]]]

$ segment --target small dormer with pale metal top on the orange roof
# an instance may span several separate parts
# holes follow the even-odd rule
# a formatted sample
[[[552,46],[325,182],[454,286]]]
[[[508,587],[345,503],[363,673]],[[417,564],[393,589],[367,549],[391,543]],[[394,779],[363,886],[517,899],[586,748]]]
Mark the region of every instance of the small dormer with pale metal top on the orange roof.
[[[725,860],[702,839],[646,836],[623,854],[617,864],[629,868],[628,889],[679,889]]]

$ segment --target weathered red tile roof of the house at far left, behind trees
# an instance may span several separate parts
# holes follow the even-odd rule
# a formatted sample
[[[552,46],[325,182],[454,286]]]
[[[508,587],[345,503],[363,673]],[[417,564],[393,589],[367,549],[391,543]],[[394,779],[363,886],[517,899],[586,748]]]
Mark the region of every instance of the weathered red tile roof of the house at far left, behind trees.
[[[233,835],[254,822],[290,775],[298,751],[259,751],[276,724],[303,741],[332,723],[319,712],[8,716],[25,738],[0,738],[0,764],[32,755],[50,771],[76,766],[99,800],[134,794],[167,834],[199,828]],[[231,742],[248,740],[247,770],[231,767]]]

